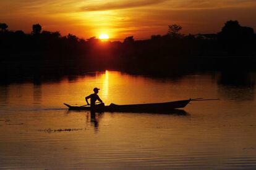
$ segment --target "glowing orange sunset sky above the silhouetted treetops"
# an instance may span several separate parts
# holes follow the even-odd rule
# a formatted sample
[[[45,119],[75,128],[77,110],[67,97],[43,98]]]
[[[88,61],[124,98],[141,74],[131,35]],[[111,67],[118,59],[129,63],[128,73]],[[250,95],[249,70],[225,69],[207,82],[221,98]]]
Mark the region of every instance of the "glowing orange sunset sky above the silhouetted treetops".
[[[0,22],[26,33],[40,23],[43,30],[80,38],[145,39],[165,34],[171,24],[186,34],[216,33],[227,20],[255,29],[255,9],[255,0],[1,0]]]

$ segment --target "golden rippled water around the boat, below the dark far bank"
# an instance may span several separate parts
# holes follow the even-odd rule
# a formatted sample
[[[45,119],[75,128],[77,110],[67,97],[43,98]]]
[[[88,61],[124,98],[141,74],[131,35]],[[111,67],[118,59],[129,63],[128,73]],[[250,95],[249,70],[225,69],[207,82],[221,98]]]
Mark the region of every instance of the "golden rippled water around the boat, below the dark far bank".
[[[148,78],[117,71],[0,86],[0,169],[256,169],[255,73]],[[191,102],[185,115],[68,111],[93,87],[109,103]],[[66,129],[66,130],[65,130]]]

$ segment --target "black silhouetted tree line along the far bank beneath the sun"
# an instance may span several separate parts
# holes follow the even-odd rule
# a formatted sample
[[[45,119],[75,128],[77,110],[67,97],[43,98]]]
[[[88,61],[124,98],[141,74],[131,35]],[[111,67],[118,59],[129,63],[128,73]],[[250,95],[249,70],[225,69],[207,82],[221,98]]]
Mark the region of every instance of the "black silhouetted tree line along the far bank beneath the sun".
[[[226,22],[217,34],[184,35],[180,33],[182,26],[169,25],[164,35],[152,35],[145,40],[128,36],[123,42],[101,42],[95,37],[85,40],[73,34],[61,36],[58,31],[42,31],[40,24],[33,25],[30,34],[7,28],[6,23],[0,23],[1,62],[52,60],[60,64],[69,61],[76,65],[86,63],[92,68],[154,72],[170,67],[216,67],[219,63],[226,65],[231,59],[237,62],[230,56],[256,54],[254,29],[233,20]]]

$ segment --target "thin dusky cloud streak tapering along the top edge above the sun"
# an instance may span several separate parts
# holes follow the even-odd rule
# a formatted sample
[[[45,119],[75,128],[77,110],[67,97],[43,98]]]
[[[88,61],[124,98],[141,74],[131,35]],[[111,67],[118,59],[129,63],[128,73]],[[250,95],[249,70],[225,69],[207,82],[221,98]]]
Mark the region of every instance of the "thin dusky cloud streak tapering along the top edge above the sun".
[[[129,9],[135,7],[150,6],[160,4],[167,0],[139,0],[139,1],[121,1],[121,2],[108,2],[105,4],[94,4],[81,7],[82,11],[99,11],[99,10],[119,10]]]

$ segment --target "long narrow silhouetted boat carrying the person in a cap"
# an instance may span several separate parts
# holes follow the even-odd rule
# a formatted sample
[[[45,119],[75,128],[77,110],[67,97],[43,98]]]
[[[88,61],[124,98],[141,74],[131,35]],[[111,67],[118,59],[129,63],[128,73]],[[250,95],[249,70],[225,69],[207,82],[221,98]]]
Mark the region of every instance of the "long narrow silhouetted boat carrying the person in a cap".
[[[94,111],[120,111],[120,112],[167,112],[173,111],[177,108],[184,108],[186,105],[191,101],[188,100],[178,100],[173,102],[165,102],[165,103],[143,103],[143,104],[136,104],[136,105],[116,105],[111,103],[109,106],[105,105],[98,105]],[[69,110],[91,110],[90,107],[77,107],[71,106],[64,103]]]

